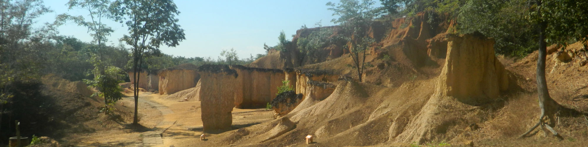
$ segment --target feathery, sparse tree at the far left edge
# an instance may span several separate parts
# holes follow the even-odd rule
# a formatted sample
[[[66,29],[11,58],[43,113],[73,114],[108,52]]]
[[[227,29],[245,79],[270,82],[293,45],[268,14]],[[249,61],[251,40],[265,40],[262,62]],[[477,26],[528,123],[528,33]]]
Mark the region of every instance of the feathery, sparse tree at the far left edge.
[[[39,63],[29,57],[38,50],[22,44],[31,40],[35,19],[47,12],[52,11],[41,0],[0,1],[0,132],[8,132],[1,128],[2,115],[8,113],[4,106],[12,108],[15,83],[37,78]]]

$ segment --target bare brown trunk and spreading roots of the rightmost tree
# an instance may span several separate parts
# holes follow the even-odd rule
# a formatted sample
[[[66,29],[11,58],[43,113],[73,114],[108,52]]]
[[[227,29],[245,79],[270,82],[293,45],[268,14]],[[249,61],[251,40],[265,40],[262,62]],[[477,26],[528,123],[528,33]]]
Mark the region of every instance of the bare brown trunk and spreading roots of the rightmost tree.
[[[537,1],[537,12],[539,16],[541,16],[541,2]],[[537,126],[541,126],[541,129],[544,131],[544,127],[549,129],[553,135],[558,135],[556,131],[553,130],[553,125],[555,125],[554,115],[557,111],[557,103],[553,101],[551,96],[549,96],[549,91],[547,90],[547,81],[545,78],[545,60],[547,57],[547,43],[545,42],[545,29],[547,28],[547,22],[541,20],[539,23],[539,58],[537,58],[537,93],[539,95],[539,108],[541,108],[541,114],[539,116],[539,122],[537,122],[529,131],[520,135],[519,138],[522,138],[532,132]],[[543,119],[547,116],[549,119],[549,124],[546,124]],[[545,131],[544,131],[545,132]],[[547,132],[545,132],[547,134]]]

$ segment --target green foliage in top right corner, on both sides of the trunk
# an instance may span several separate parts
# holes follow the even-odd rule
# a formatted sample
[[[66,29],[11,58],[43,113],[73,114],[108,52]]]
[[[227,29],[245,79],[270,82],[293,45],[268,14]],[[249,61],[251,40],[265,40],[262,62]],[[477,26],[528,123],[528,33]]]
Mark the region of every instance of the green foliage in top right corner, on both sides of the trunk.
[[[477,31],[494,38],[498,54],[513,56],[524,56],[537,49],[536,24],[541,21],[547,22],[547,44],[566,45],[587,39],[588,1],[542,2],[537,6],[529,0],[468,0],[457,16],[459,31],[463,34]]]

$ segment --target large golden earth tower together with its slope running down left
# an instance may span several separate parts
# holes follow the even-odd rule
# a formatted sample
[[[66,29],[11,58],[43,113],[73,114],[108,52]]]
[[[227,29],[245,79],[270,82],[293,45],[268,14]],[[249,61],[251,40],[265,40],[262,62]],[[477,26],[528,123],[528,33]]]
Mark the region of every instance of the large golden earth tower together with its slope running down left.
[[[424,143],[452,126],[472,123],[469,120],[476,116],[466,116],[463,110],[493,101],[508,88],[509,79],[495,57],[492,39],[474,34],[448,36],[447,41],[446,62],[435,93],[406,127],[390,126],[390,130],[399,130],[390,133],[395,141]]]

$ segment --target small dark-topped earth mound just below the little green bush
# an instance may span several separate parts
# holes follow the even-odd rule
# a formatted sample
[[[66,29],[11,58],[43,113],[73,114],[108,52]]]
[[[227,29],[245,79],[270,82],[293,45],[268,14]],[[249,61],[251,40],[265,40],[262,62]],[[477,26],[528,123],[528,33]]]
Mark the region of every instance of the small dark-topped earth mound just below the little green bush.
[[[302,98],[302,93],[296,94],[295,91],[285,91],[276,96],[271,105],[273,111],[280,116],[284,116],[296,108],[302,102]]]

